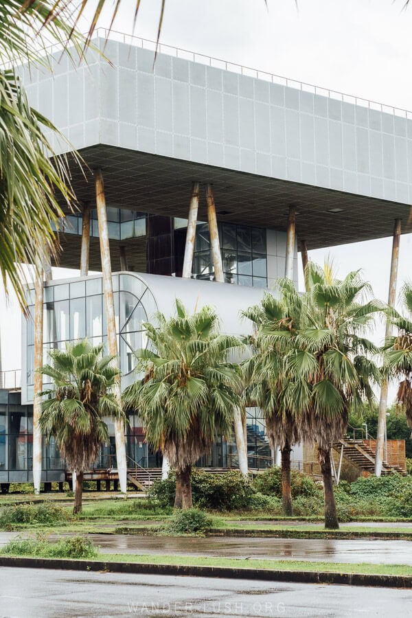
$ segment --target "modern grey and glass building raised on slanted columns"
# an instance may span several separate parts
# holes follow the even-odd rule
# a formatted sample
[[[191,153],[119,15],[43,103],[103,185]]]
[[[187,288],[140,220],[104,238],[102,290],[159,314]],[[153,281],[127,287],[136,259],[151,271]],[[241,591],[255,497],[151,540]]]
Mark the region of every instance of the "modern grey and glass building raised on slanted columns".
[[[49,347],[107,335],[125,383],[141,321],[155,307],[168,312],[174,295],[193,299],[201,289],[202,302],[229,310],[231,325],[276,277],[297,280],[298,247],[305,260],[308,249],[389,236],[394,221],[398,238],[409,217],[407,111],[163,45],[154,63],[152,43],[111,37],[95,38],[103,54],[90,50],[80,67],[52,50],[54,76],[21,69],[30,102],[70,141],[52,137],[56,152],[68,155],[80,203],[62,221],[60,265],[82,275],[47,281],[44,290],[38,281],[30,292],[21,384],[27,428],[14,424],[8,400],[0,416],[4,483],[17,471],[12,442],[23,444],[23,435],[26,478],[33,466],[35,486],[46,479],[36,403],[34,431],[29,418],[41,389],[33,369]],[[262,420],[251,415],[250,455],[270,460]],[[155,461],[133,422],[133,439],[113,428],[122,489],[126,457]],[[228,453],[216,446],[208,463],[224,466]]]

